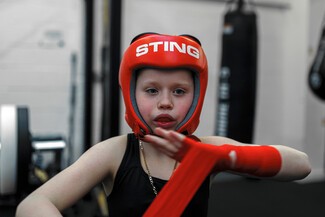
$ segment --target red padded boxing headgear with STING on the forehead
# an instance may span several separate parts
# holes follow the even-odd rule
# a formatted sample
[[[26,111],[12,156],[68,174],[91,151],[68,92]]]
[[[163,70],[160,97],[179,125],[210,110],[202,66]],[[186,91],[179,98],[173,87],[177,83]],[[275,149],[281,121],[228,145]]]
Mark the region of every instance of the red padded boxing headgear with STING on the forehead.
[[[119,83],[125,103],[125,120],[137,136],[152,133],[135,99],[136,72],[143,68],[188,69],[193,72],[194,98],[184,120],[176,127],[192,134],[198,127],[208,82],[208,64],[198,39],[189,35],[144,33],[126,49],[120,65]]]

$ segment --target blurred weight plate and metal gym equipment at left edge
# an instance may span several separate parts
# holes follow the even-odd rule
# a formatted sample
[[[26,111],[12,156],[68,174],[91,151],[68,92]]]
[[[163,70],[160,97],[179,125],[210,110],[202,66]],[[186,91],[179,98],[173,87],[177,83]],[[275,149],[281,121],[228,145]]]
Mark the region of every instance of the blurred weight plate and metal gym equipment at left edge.
[[[28,115],[27,107],[0,106],[0,205],[16,205],[61,170],[65,140],[33,137]]]

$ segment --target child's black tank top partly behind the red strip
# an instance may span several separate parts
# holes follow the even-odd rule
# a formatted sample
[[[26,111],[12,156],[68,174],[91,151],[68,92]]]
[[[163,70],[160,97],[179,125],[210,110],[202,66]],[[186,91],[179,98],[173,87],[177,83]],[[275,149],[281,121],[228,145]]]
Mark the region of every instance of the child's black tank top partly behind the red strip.
[[[158,192],[167,183],[155,177],[153,181]],[[182,216],[207,216],[209,182],[210,178],[207,177]],[[139,142],[134,134],[128,134],[126,151],[116,173],[112,192],[107,197],[109,217],[140,217],[154,198],[148,175],[141,166]]]

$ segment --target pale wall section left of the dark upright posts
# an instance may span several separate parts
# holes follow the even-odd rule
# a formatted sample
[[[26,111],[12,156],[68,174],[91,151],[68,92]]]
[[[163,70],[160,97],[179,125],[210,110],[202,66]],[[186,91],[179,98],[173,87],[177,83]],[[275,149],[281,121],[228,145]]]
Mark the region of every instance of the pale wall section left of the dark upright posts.
[[[33,134],[59,134],[67,139],[71,75],[76,70],[78,135],[74,141],[79,146],[83,123],[82,13],[80,0],[0,3],[0,104],[27,106]],[[76,57],[74,69],[72,55]]]

